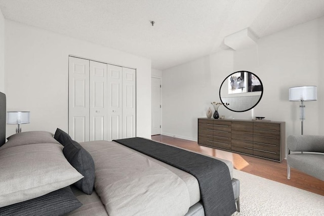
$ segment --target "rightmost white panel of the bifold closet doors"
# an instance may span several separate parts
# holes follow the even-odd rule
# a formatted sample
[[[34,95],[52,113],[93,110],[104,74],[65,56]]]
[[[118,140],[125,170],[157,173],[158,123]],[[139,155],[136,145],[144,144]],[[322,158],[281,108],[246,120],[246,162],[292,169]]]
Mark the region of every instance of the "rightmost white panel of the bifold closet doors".
[[[123,138],[136,137],[136,70],[123,67]]]

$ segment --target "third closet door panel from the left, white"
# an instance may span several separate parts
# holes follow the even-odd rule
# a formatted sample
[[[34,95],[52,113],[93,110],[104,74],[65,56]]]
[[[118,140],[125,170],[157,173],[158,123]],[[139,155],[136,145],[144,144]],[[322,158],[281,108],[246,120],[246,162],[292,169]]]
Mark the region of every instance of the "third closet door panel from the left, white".
[[[107,140],[121,139],[123,114],[122,105],[122,82],[123,68],[115,65],[107,65]]]

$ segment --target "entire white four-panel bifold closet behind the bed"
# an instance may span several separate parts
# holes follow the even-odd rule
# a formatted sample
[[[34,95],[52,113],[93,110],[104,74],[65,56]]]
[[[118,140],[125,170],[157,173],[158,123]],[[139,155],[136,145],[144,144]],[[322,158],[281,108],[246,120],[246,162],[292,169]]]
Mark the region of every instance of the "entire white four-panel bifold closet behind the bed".
[[[69,57],[68,133],[77,142],[136,136],[136,70]]]

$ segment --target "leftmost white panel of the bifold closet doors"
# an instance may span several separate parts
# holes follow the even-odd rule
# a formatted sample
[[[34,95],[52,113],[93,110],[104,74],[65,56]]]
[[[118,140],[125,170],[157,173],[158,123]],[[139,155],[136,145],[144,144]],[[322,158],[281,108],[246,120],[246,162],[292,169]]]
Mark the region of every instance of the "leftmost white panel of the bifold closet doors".
[[[89,141],[89,60],[69,57],[69,135]]]

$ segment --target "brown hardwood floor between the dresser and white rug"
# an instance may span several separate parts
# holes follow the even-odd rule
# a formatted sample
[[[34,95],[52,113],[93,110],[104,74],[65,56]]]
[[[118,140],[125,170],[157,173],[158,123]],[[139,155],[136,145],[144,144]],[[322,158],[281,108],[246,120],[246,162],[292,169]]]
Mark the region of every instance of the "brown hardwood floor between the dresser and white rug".
[[[194,141],[164,135],[152,136],[152,140],[191,151],[200,152],[210,156],[223,158],[231,161],[235,169],[324,196],[324,182],[320,181],[319,179],[308,176],[303,172],[292,168],[291,179],[288,180],[287,161],[285,159],[279,163],[248,155],[199,146],[197,142]]]

